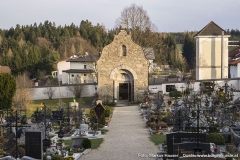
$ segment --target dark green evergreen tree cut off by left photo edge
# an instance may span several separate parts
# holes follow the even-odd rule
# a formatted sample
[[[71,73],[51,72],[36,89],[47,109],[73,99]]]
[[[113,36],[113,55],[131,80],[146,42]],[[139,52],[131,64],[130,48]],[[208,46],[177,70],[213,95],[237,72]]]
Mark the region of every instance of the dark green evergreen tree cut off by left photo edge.
[[[10,73],[0,73],[0,109],[10,109],[16,92],[16,80]]]

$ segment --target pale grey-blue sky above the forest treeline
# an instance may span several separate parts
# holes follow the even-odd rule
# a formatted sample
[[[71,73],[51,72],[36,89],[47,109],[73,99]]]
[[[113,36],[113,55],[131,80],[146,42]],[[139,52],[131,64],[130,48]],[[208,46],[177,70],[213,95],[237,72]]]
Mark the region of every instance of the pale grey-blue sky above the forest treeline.
[[[46,20],[56,26],[79,26],[88,20],[113,29],[131,4],[147,11],[158,32],[200,31],[211,21],[223,29],[240,30],[240,0],[1,0],[0,28]]]

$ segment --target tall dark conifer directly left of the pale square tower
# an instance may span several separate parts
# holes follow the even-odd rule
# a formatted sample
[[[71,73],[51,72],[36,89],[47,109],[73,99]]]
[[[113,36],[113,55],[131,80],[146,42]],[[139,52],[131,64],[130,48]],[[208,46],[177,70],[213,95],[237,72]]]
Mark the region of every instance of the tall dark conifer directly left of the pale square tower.
[[[182,48],[182,55],[185,57],[189,69],[196,67],[196,42],[193,36],[187,32]]]

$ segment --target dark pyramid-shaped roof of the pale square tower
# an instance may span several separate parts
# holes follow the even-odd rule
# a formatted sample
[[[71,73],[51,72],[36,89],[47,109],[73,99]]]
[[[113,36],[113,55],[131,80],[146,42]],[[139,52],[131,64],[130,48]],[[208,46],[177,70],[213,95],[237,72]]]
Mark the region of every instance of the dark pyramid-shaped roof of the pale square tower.
[[[224,35],[229,35],[224,29],[219,27],[216,23],[211,21],[202,30],[200,30],[195,36],[220,36],[224,31]],[[195,37],[194,36],[194,37]]]

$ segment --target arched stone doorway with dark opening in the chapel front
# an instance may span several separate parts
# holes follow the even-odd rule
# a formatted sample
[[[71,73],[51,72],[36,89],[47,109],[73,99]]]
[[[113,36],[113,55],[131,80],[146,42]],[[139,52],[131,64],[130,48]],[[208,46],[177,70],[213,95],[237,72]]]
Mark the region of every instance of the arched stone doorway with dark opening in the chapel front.
[[[127,69],[114,71],[112,76],[114,99],[131,102],[134,96],[134,77]]]

